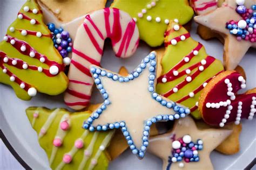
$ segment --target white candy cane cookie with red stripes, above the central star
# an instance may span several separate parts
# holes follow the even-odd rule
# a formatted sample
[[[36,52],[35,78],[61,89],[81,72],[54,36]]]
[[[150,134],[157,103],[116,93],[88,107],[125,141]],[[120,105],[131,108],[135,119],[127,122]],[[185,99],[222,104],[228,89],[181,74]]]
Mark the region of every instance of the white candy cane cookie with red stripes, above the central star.
[[[111,39],[117,57],[127,58],[138,47],[139,31],[134,20],[119,9],[105,8],[85,16],[73,42],[70,83],[64,96],[72,109],[83,109],[89,104],[93,85],[89,66],[100,65],[106,38]]]

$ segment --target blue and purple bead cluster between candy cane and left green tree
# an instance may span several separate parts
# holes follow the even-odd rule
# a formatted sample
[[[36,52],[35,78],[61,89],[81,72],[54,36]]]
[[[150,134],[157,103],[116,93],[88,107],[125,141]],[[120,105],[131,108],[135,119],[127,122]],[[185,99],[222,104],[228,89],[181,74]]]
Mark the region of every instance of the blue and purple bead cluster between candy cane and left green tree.
[[[47,26],[52,33],[52,41],[55,48],[57,48],[60,55],[62,55],[65,65],[69,65],[71,60],[68,58],[68,53],[72,52],[73,45],[72,39],[69,37],[69,32],[64,31],[62,27],[58,29],[53,23],[49,23]]]

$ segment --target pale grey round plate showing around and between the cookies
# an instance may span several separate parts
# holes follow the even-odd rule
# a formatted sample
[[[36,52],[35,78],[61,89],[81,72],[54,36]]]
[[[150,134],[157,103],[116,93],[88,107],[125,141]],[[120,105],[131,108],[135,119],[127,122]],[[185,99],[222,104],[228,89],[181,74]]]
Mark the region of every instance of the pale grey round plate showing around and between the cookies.
[[[15,0],[1,2],[0,11],[2,12],[2,17],[0,20],[0,37],[5,35],[6,28],[8,28],[12,21],[15,20],[17,11],[19,11],[24,2],[25,1]],[[108,4],[111,4],[111,2],[108,2]],[[205,46],[208,55],[214,56],[214,58],[222,61],[223,44],[215,39],[210,41],[201,39],[196,33],[196,30],[197,24],[192,22],[190,31],[191,37]],[[100,61],[100,66],[115,73],[118,73],[119,68],[124,66],[131,72],[151,51],[152,48],[150,46],[145,42],[140,41],[137,51],[131,58],[120,59],[114,57],[115,54],[111,43],[107,41],[104,46],[104,54]],[[242,93],[247,89],[255,87],[255,63],[255,49],[249,49],[239,63],[239,65],[244,68],[247,79],[246,89],[243,89],[244,91],[241,90]],[[16,97],[14,90],[9,86],[0,84],[0,96],[0,128],[9,140],[9,143],[32,169],[50,169],[47,155],[38,143],[37,133],[31,128],[25,110],[31,106],[47,107],[50,109],[69,109],[63,102],[63,94],[57,96],[37,94],[28,102],[19,100],[19,98]],[[93,88],[91,102],[103,102],[102,96],[95,87]],[[256,120],[255,118],[252,121],[243,119],[241,124],[242,132],[240,133],[239,138],[240,151],[234,155],[224,155],[213,151],[210,158],[214,169],[243,169],[255,158],[255,153],[253,151],[256,150]],[[118,158],[110,162],[109,169],[161,169],[162,164],[163,163],[159,158],[149,152],[147,152],[142,160],[139,160],[130,150],[126,150]]]

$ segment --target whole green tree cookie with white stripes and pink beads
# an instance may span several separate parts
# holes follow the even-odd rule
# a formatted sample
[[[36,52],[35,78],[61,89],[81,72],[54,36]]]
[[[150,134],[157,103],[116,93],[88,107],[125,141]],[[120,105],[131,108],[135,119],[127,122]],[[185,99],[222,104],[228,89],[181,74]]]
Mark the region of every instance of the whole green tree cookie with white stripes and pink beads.
[[[107,169],[110,158],[105,150],[114,130],[84,130],[81,125],[90,114],[90,111],[71,114],[65,109],[40,107],[26,109],[52,169]]]

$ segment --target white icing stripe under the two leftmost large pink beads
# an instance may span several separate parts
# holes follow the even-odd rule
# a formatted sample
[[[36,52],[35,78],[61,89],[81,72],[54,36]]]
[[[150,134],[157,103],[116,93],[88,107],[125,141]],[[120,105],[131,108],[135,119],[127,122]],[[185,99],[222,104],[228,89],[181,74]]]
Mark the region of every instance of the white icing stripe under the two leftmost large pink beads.
[[[69,125],[70,125],[71,121],[70,121],[70,116],[69,116],[69,114],[63,115],[62,118],[60,119],[59,128],[58,128],[58,131],[57,131],[56,136],[55,136],[55,138],[60,138],[62,141],[63,141],[63,139],[65,138],[66,133],[67,133],[67,131],[64,131],[64,130],[60,129],[60,123],[62,123],[63,121],[67,121],[67,122],[69,123]],[[58,147],[56,147],[56,146],[53,145],[53,146],[52,146],[52,151],[51,151],[51,157],[50,157],[50,160],[49,160],[50,165],[51,165],[52,162],[54,161],[54,159],[55,159],[55,157],[56,157],[57,151],[58,151]]]

